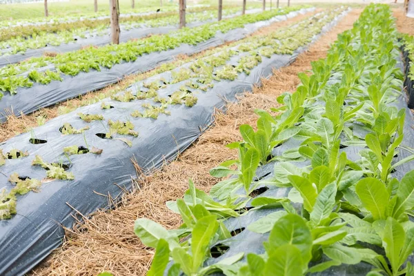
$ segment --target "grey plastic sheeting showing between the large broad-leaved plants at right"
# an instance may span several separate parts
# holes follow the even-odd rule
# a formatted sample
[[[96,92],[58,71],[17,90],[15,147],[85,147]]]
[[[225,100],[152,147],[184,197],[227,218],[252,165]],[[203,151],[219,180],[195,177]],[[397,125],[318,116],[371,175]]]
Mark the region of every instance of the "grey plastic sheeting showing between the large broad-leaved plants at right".
[[[403,70],[402,60],[398,59],[397,67]],[[401,92],[401,96],[397,98],[397,101],[391,103],[391,106],[395,106],[399,109],[405,108],[406,109],[406,117],[404,121],[404,139],[402,141],[402,145],[404,146],[413,146],[414,141],[414,129],[412,126],[414,126],[414,116],[411,110],[406,107],[406,99],[404,97],[404,90]],[[301,141],[296,140],[294,138],[288,139],[284,144],[281,146],[278,146],[275,148],[272,152],[273,156],[281,156],[283,152],[285,152],[288,149],[291,148],[297,148],[301,144]],[[360,146],[348,146],[346,148],[342,148],[339,150],[340,152],[346,152],[346,155],[348,159],[351,159],[353,161],[356,161],[357,159],[361,159],[361,156],[358,154],[359,150],[364,149],[364,147]],[[405,150],[399,149],[400,153],[397,157],[394,158],[393,164],[397,163],[398,161],[408,157],[411,155],[409,152],[406,152]],[[307,161],[290,161],[292,164],[297,166],[298,168],[304,168],[306,166],[311,166],[311,162],[309,160]],[[268,179],[271,177],[274,177],[274,167],[278,164],[277,161],[271,162],[269,164],[266,164],[265,166],[257,168],[256,171],[256,177],[254,181],[258,181],[259,179]],[[404,175],[414,169],[414,163],[413,161],[408,162],[406,164],[403,164],[399,167],[397,167],[396,172],[393,172],[391,175],[399,180],[404,177]],[[253,184],[252,184],[253,185]],[[257,186],[257,190],[259,188],[264,188],[265,185]],[[281,197],[287,197],[288,193],[290,191],[290,188],[278,188],[275,186],[266,186],[268,190],[265,190],[264,193],[257,195],[257,197],[275,197],[275,198],[281,198]],[[240,189],[237,191],[239,195],[244,195],[244,189]],[[256,197],[256,198],[257,198]],[[293,204],[295,209],[298,213],[301,212],[302,206],[300,204]],[[246,207],[251,207],[250,202],[246,205]],[[206,260],[205,266],[210,266],[212,264],[217,264],[217,262],[222,261],[223,259],[226,259],[228,257],[232,257],[237,255],[238,253],[244,252],[244,258],[241,262],[246,262],[246,256],[248,253],[255,253],[257,255],[264,254],[264,246],[263,243],[268,241],[269,233],[259,234],[252,232],[247,229],[247,227],[252,224],[253,222],[257,221],[258,219],[261,219],[262,217],[265,217],[266,215],[269,215],[273,212],[279,212],[284,210],[283,208],[270,208],[270,209],[257,209],[257,210],[250,210],[246,215],[242,215],[240,217],[232,217],[230,219],[227,219],[224,221],[225,226],[228,228],[230,232],[234,230],[242,230],[241,233],[238,235],[235,235],[234,237],[230,237],[229,239],[226,239],[224,241],[219,241],[216,244],[213,245],[212,248],[214,248],[217,245],[224,245],[228,246],[228,250],[221,256],[217,258],[210,257]],[[414,221],[413,218],[410,217],[412,221]],[[239,232],[239,231],[237,231]],[[371,244],[364,244],[364,246],[371,248],[372,250],[377,251],[377,253],[384,255],[384,252],[379,250],[379,248],[372,246]],[[411,257],[408,258],[409,261],[414,262],[414,256],[411,255]],[[316,264],[320,264],[322,262],[328,261],[328,258],[326,256],[322,257],[322,259],[319,262],[311,262],[311,266],[315,266]],[[170,267],[171,263],[168,267]],[[348,265],[348,264],[342,264],[340,266],[333,266],[331,268],[328,268],[327,270],[324,270],[320,273],[312,273],[311,275],[315,276],[348,276],[348,275],[366,275],[369,271],[373,269],[373,266],[371,264],[367,264],[365,262],[361,262],[359,264],[354,265]],[[166,273],[164,273],[166,275]],[[223,276],[222,273],[214,273],[215,276]]]

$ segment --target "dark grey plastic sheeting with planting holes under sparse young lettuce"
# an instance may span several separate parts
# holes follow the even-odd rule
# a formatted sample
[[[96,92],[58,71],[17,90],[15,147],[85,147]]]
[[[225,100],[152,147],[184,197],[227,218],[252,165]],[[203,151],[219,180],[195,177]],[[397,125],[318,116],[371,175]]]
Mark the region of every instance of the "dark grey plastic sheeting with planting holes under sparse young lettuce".
[[[296,55],[273,55],[270,59],[263,57],[262,63],[251,70],[250,75],[239,74],[235,81],[214,81],[214,88],[196,94],[198,101],[195,106],[169,106],[171,115],[161,114],[157,120],[130,117],[130,112],[141,108],[137,101],[124,103],[106,99],[107,101],[104,101],[114,108],[102,110],[100,103],[84,106],[52,119],[32,132],[3,143],[3,152],[17,148],[27,150],[30,155],[21,159],[6,160],[6,165],[1,168],[2,172],[8,176],[18,172],[19,175],[36,179],[43,179],[46,171],[39,166],[30,166],[35,155],[41,155],[47,162],[66,163],[68,160],[61,153],[63,148],[73,145],[86,146],[86,142],[89,147],[95,146],[103,149],[103,152],[101,155],[70,155],[70,171],[74,172],[75,180],[55,180],[43,184],[40,193],[28,193],[18,197],[17,215],[10,220],[0,221],[0,248],[3,248],[0,252],[0,275],[26,273],[41,262],[50,250],[57,248],[64,235],[59,224],[71,227],[75,221],[72,217],[75,211],[70,206],[81,214],[90,214],[98,208],[106,208],[107,199],[101,195],[117,197],[123,193],[123,189],[119,187],[130,190],[131,178],[135,176],[132,158],[137,160],[137,164],[144,171],[157,168],[164,161],[175,159],[177,152],[188,148],[199,137],[200,130],[206,129],[212,123],[213,112],[215,108],[224,108],[224,99],[235,101],[237,94],[246,90],[251,91],[253,85],[259,83],[262,77],[271,75],[273,68],[286,66],[295,57]],[[233,57],[233,61],[235,58]],[[168,77],[167,73],[163,76]],[[169,86],[168,89],[160,89],[158,94],[165,97],[184,82]],[[134,89],[136,86],[130,87],[130,90]],[[79,119],[77,112],[99,113],[112,121],[130,119],[135,125],[135,130],[139,131],[139,137],[118,136],[130,139],[131,148],[124,141],[101,139],[95,134],[108,132],[106,126],[101,121],[86,124]],[[90,126],[90,130],[86,130],[83,135],[62,137],[59,128],[65,123],[70,123],[74,128]],[[31,138],[44,139],[47,143],[30,144]],[[12,188],[8,177],[4,175],[0,175],[1,188]]]

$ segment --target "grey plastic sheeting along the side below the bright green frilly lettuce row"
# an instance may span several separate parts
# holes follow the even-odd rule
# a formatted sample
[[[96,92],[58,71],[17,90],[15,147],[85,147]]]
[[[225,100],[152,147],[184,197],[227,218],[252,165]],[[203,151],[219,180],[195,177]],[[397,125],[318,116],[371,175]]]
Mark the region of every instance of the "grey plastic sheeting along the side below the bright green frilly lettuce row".
[[[290,12],[289,16],[296,16],[315,10],[315,8],[301,9]],[[90,70],[90,72],[79,72],[79,75],[72,77],[63,75],[63,81],[52,81],[47,86],[34,83],[31,88],[19,88],[16,95],[6,93],[0,100],[0,121],[6,121],[8,112],[20,116],[21,113],[29,114],[40,108],[52,106],[55,103],[66,101],[84,95],[89,91],[104,88],[112,83],[117,83],[119,79],[135,73],[146,72],[159,66],[161,63],[172,61],[176,55],[194,55],[208,48],[220,46],[229,41],[243,39],[264,26],[276,21],[286,20],[286,15],[278,15],[267,21],[249,23],[244,28],[237,28],[226,33],[217,32],[215,37],[201,42],[196,46],[182,44],[181,46],[163,52],[152,52],[142,55],[134,62],[123,62],[115,64],[111,69],[101,68],[101,71]]]

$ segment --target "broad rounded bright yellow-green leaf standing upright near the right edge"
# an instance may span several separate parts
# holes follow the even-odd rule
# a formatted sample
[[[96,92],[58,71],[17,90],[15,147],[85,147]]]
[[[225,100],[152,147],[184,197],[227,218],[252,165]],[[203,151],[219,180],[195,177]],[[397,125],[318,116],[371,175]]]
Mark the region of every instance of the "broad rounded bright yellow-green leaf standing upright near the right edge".
[[[378,179],[367,177],[358,181],[355,190],[362,205],[371,212],[373,219],[385,219],[390,195]]]

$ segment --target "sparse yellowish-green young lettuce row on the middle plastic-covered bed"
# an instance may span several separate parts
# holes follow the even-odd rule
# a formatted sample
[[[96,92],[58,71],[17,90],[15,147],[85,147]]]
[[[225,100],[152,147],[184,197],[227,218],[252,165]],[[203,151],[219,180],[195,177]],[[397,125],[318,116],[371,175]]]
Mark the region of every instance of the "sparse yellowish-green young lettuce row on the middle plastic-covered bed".
[[[64,142],[66,139],[72,140],[68,135],[83,135],[82,139],[86,145],[67,144],[60,150],[53,149],[53,152],[63,151],[64,159],[68,160],[71,159],[70,155],[106,155],[103,150],[94,148],[92,145],[88,146],[90,139],[92,139],[91,136],[95,136],[96,132],[96,126],[93,125],[94,121],[100,121],[102,125],[108,124],[108,132],[99,136],[103,139],[110,139],[108,141],[112,143],[121,140],[128,146],[132,146],[132,143],[139,143],[139,138],[137,138],[139,131],[135,128],[135,124],[139,122],[138,119],[148,120],[158,119],[159,116],[170,116],[171,110],[173,110],[172,106],[195,106],[199,96],[204,97],[207,93],[213,95],[219,93],[219,91],[213,89],[221,81],[235,81],[240,77],[244,79],[244,76],[250,74],[250,70],[260,66],[262,59],[274,55],[292,55],[294,50],[310,43],[327,23],[333,21],[342,12],[344,12],[344,8],[320,12],[299,23],[279,28],[269,34],[237,41],[233,45],[216,51],[213,50],[210,55],[186,63],[179,68],[175,68],[175,70],[139,81],[130,86],[130,89],[114,94],[110,98],[101,99],[101,101],[87,106],[88,112],[90,112],[88,114],[83,114],[79,110],[74,111],[76,119],[70,121],[60,120],[63,122],[59,128],[62,134],[59,137],[61,139],[59,145],[66,145],[67,143]],[[229,65],[230,59],[233,60],[232,66]],[[170,75],[170,77],[166,78],[166,75]],[[237,86],[237,83],[235,83],[235,86]],[[139,90],[136,90],[137,88]],[[124,116],[122,117],[131,119],[119,121],[112,118],[119,118],[117,112],[110,112],[112,108],[123,110]],[[79,124],[80,120],[85,122],[86,126],[77,128],[77,126],[83,126],[83,124]],[[50,123],[52,124],[52,122]],[[47,123],[44,127],[48,127],[48,125]],[[39,131],[36,128],[33,129],[32,136],[36,137],[35,134]],[[39,139],[32,140],[30,141],[32,144],[41,144],[42,142]],[[44,142],[46,143],[46,141]],[[129,149],[126,148],[125,150]],[[9,152],[0,151],[0,166],[7,166],[7,168],[3,168],[3,171],[10,170],[10,166],[15,165],[12,165],[14,163],[9,164],[8,159],[31,158],[31,153],[26,148],[24,150],[14,148]],[[119,154],[119,152],[112,154]],[[22,177],[19,175],[19,170],[12,168],[14,172],[10,175],[9,181],[14,186],[12,190],[6,191],[4,189],[0,194],[0,219],[10,219],[16,213],[18,195],[25,195],[30,191],[39,191],[44,181],[52,181],[53,179],[70,181],[77,177],[76,172],[71,172],[70,168],[65,167],[66,164],[43,161],[40,155],[36,155],[30,164],[31,166],[44,168],[45,178]]]

